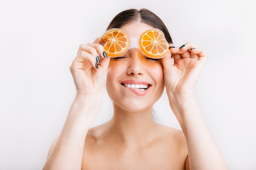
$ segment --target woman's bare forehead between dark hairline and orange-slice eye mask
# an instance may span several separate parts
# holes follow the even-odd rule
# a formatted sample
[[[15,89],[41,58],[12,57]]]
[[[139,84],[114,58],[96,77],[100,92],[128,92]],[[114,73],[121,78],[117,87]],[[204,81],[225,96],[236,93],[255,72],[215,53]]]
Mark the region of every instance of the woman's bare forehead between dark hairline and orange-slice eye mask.
[[[152,28],[154,27],[143,22],[132,22],[122,26],[120,29],[123,30],[129,37],[138,37],[144,31]]]

